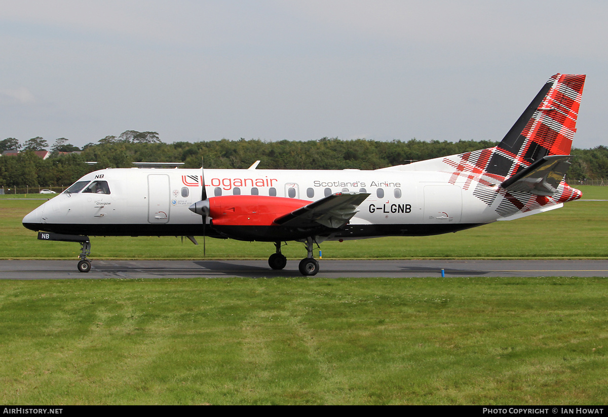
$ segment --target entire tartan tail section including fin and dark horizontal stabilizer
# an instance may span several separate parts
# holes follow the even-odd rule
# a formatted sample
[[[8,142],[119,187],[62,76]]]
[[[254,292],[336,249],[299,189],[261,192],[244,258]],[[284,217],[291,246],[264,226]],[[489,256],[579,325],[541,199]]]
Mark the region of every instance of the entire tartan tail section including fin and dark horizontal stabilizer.
[[[449,182],[474,183],[473,195],[505,219],[581,198],[564,177],[584,83],[585,75],[553,75],[497,146],[442,159]]]

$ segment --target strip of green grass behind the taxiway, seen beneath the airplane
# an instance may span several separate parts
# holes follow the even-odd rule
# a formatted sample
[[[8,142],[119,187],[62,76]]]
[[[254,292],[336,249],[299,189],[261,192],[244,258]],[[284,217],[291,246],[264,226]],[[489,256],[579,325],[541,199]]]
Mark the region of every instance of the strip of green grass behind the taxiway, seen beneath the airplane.
[[[608,187],[583,186],[584,199],[608,200]],[[31,195],[30,195],[31,196]],[[38,197],[38,195],[34,195]],[[77,243],[36,240],[21,219],[40,200],[0,199],[0,258],[76,258]],[[391,237],[324,242],[323,258],[606,258],[608,201],[575,201],[562,209],[515,221],[500,221],[458,233],[423,237]],[[194,246],[180,237],[93,237],[92,259],[203,257],[202,238]],[[207,258],[266,259],[272,243],[207,239]],[[303,244],[288,242],[283,253],[305,256]]]

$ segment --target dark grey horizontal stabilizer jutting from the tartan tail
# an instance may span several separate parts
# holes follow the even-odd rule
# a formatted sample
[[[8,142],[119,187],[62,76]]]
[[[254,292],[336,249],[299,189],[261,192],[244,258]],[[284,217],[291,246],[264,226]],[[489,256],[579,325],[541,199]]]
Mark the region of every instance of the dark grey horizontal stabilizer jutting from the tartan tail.
[[[507,191],[552,196],[570,168],[570,159],[572,159],[572,155],[542,157],[530,167],[524,168],[506,179],[501,186]]]

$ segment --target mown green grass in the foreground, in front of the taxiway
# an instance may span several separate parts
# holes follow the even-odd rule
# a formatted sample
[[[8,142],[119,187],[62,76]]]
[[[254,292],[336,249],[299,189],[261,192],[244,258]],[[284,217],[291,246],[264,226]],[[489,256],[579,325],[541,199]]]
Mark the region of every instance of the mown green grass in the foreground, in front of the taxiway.
[[[603,278],[0,282],[0,402],[606,404]]]

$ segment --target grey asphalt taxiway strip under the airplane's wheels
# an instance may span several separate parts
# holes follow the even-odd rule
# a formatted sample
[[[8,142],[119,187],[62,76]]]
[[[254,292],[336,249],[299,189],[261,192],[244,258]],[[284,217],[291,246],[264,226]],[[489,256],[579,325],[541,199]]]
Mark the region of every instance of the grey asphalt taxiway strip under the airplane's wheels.
[[[0,279],[274,278],[301,277],[299,261],[273,271],[266,261],[92,260],[88,273],[77,260],[0,260]],[[320,260],[311,278],[608,277],[608,260]]]

